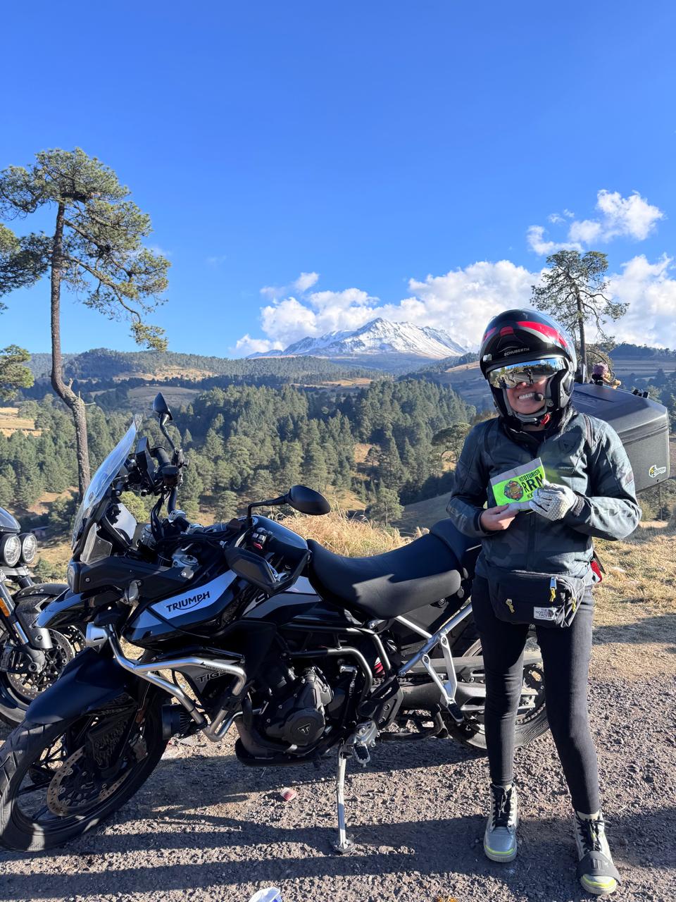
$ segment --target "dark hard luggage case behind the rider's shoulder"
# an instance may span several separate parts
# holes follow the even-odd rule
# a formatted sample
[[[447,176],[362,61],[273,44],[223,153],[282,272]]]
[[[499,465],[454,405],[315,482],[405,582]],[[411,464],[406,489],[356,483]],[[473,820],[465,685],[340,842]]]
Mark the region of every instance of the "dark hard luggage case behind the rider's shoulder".
[[[605,419],[625,446],[636,492],[669,479],[669,415],[650,398],[605,385],[577,384],[572,402],[591,417]]]

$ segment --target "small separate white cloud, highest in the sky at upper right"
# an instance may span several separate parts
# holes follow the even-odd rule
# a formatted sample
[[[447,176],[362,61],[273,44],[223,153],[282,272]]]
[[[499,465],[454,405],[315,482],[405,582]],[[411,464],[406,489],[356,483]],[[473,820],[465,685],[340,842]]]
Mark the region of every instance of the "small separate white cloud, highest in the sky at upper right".
[[[601,215],[593,219],[575,219],[570,210],[563,210],[563,216],[572,219],[568,240],[564,242],[545,240],[544,226],[530,226],[526,232],[529,246],[535,253],[548,254],[562,248],[581,251],[585,245],[605,244],[619,236],[644,241],[664,218],[662,210],[649,204],[637,191],[623,198],[619,191],[601,189],[597,194],[596,208]],[[554,226],[564,222],[558,213],[547,218]]]

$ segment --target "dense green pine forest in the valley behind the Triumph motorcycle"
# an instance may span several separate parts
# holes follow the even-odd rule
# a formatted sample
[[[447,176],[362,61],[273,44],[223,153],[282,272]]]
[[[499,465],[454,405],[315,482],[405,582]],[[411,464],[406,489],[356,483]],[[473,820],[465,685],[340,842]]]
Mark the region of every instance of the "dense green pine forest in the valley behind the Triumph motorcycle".
[[[192,515],[202,509],[224,519],[243,502],[302,482],[392,519],[399,502],[444,491],[448,474],[432,438],[474,412],[451,389],[417,380],[382,379],[352,393],[291,385],[214,388],[174,411],[190,460],[180,502]],[[74,435],[69,413],[52,395],[23,401],[17,415],[34,430],[0,435],[0,505],[27,511],[45,492],[77,484]],[[129,420],[129,411],[87,407],[93,466]],[[143,428],[162,440],[154,420]],[[59,498],[44,519],[64,529],[73,505],[69,496]]]

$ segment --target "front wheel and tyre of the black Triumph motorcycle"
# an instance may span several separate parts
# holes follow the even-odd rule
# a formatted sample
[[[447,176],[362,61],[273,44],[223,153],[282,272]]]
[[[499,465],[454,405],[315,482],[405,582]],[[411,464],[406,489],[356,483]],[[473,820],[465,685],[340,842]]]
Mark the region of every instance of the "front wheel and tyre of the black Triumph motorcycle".
[[[16,727],[0,750],[0,842],[51,849],[112,815],[167,746],[161,701]]]

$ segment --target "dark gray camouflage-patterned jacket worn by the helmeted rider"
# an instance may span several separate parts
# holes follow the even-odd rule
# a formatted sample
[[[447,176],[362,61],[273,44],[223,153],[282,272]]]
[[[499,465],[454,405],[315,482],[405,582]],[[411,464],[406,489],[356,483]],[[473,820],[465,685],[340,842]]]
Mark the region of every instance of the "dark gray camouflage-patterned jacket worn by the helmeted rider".
[[[491,477],[534,457],[542,460],[547,480],[568,485],[577,502],[562,520],[522,511],[507,529],[487,532],[479,519],[484,502],[496,505]],[[446,511],[464,535],[480,538],[476,572],[488,579],[491,566],[590,579],[592,538],[626,538],[641,518],[617,432],[575,410],[566,411],[561,428],[543,433],[516,435],[499,418],[478,423],[465,439]]]

